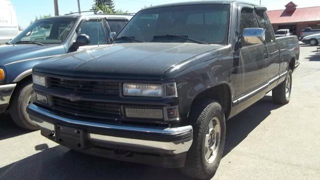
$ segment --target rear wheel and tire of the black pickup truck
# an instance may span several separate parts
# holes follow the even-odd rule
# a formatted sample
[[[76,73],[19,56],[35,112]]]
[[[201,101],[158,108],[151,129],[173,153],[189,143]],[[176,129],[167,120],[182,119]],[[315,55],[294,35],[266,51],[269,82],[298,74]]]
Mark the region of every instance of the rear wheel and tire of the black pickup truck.
[[[283,82],[272,89],[272,100],[278,104],[286,104],[290,100],[292,86],[292,71],[288,70]]]

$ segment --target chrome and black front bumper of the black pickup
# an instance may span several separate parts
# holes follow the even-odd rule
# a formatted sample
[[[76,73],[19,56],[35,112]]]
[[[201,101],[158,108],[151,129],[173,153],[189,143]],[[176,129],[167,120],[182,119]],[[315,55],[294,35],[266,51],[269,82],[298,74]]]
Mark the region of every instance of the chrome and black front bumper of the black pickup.
[[[137,154],[138,158],[130,160],[121,157],[119,160],[157,165],[152,160],[144,162],[143,158],[163,157],[166,159],[165,162],[163,158],[160,160],[161,166],[180,167],[184,165],[185,152],[192,144],[191,125],[176,128],[110,125],[62,117],[35,104],[29,104],[27,112],[31,120],[41,127],[41,134],[47,138],[81,152],[108,158],[115,158],[110,155],[110,151],[124,150]],[[72,136],[72,132],[79,132],[79,137]],[[66,140],[61,140],[61,136]],[[93,150],[96,148],[99,149],[98,152],[102,149],[106,151],[98,153]],[[143,158],[141,154],[144,154]],[[183,155],[180,157],[181,154]],[[169,162],[171,160],[179,162]]]

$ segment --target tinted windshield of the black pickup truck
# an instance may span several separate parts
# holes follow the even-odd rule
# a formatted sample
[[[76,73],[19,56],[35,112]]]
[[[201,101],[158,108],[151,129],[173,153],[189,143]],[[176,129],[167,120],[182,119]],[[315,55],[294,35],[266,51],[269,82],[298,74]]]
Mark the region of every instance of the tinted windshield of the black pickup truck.
[[[188,42],[226,44],[229,5],[181,5],[139,11],[113,43]]]

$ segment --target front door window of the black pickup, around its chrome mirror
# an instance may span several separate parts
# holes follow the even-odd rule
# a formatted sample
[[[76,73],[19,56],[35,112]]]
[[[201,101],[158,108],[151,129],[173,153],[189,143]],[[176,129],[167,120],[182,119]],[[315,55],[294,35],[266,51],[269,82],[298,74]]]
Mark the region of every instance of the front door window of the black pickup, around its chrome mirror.
[[[253,9],[250,8],[242,8],[241,16],[240,16],[240,29],[239,33],[242,34],[244,28],[249,27],[259,27],[258,22],[256,21],[255,15],[253,13]],[[241,46],[247,46],[243,40],[241,40]]]

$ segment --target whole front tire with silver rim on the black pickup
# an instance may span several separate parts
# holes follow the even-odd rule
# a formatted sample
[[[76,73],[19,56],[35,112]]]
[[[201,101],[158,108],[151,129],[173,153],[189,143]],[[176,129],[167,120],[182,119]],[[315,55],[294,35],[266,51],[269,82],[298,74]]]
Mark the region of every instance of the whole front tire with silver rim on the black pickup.
[[[194,107],[193,142],[182,172],[193,178],[208,179],[215,174],[222,157],[225,118],[221,105],[214,100],[204,100]]]

